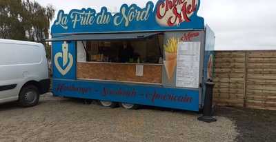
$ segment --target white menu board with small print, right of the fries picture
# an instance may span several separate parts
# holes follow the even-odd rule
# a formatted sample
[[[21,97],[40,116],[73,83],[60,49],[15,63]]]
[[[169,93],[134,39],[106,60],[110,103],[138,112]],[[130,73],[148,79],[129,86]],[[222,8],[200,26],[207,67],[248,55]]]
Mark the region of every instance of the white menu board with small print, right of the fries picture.
[[[177,87],[199,88],[200,42],[179,42]]]

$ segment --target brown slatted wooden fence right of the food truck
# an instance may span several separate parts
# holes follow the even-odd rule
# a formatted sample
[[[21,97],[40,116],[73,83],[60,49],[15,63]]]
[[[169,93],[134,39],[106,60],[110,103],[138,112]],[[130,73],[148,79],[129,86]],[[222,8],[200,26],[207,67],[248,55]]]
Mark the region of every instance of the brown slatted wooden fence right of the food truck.
[[[276,110],[276,50],[217,51],[214,102]]]

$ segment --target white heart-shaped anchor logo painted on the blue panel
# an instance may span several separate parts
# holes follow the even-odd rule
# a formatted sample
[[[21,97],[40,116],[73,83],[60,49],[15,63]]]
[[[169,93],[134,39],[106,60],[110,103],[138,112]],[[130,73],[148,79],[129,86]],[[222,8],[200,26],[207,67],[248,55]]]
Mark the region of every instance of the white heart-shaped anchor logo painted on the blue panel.
[[[61,68],[61,65],[59,65],[59,61],[58,59],[62,58],[63,59],[63,68]],[[69,59],[69,63],[68,63],[68,59]],[[72,68],[73,65],[73,56],[72,54],[68,53],[68,43],[66,41],[63,42],[62,44],[62,52],[58,52],[57,54],[55,54],[55,66],[57,68],[57,70],[59,70],[59,72],[64,76],[66,75],[70,69]]]

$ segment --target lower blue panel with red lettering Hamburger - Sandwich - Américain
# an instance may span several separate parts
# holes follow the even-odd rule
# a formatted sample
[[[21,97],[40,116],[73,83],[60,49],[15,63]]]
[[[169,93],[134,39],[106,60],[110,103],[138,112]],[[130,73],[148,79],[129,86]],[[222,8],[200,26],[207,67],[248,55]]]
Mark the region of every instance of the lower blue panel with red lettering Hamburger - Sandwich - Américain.
[[[159,85],[53,79],[52,92],[59,97],[98,99],[199,111],[198,90],[162,88]]]

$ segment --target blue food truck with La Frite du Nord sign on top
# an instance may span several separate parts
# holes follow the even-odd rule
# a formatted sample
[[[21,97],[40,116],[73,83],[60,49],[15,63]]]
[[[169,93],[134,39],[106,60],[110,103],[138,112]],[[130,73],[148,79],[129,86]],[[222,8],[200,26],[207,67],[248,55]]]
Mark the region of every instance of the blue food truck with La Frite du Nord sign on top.
[[[60,10],[52,25],[52,92],[114,108],[199,111],[213,75],[215,34],[199,0]]]

